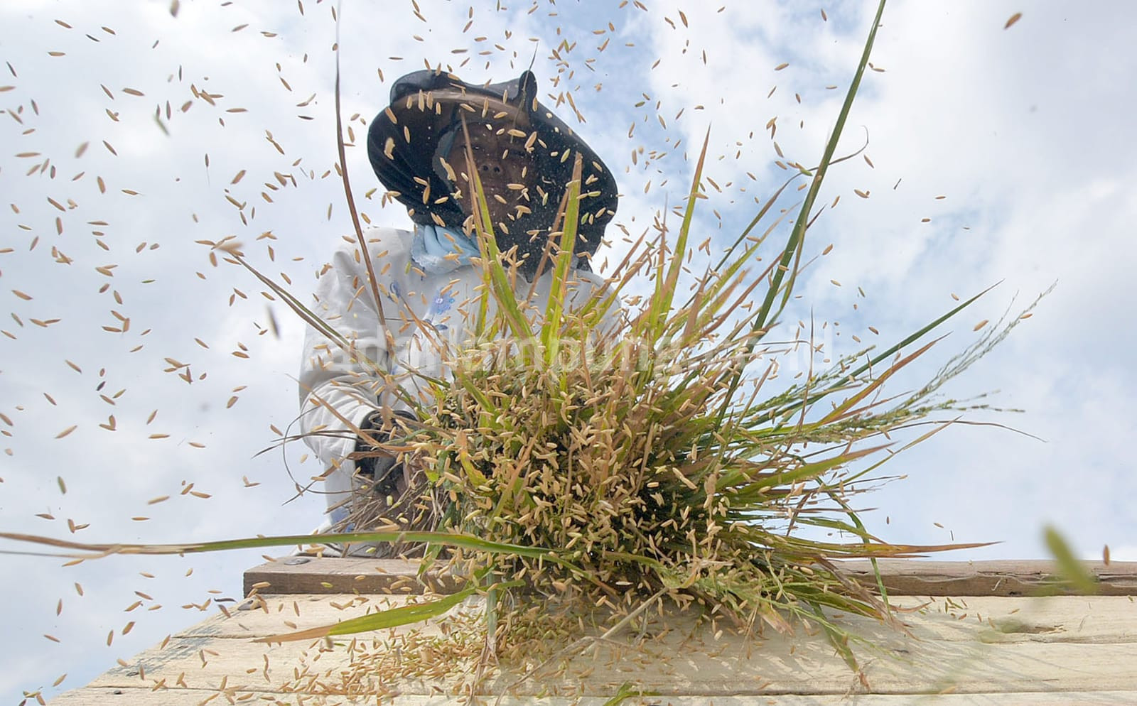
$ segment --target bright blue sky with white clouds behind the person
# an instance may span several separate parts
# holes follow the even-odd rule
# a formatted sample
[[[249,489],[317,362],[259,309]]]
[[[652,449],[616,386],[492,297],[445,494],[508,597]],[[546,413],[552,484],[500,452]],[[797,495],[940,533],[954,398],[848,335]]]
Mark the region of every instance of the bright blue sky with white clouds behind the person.
[[[166,542],[319,524],[323,498],[296,488],[321,468],[277,443],[297,414],[302,324],[250,273],[215,266],[208,243],[235,238],[304,298],[351,232],[334,171],[337,47],[368,222],[408,225],[381,206],[362,149],[395,78],[441,65],[503,81],[532,64],[542,101],[617,176],[615,235],[681,202],[709,130],[717,188],[692,239],[722,247],[787,177],[779,160],[819,159],[875,10],[347,0],[337,26],[326,1],[173,5],[0,5],[0,531]],[[887,347],[994,285],[902,391],[978,323],[1054,285],[945,390],[1022,412],[977,410],[965,420],[979,424],[891,460],[905,477],[865,497],[885,539],[999,542],[945,558],[1044,558],[1053,525],[1082,557],[1109,546],[1137,560],[1135,24],[1122,0],[885,11],[838,149],[856,156],[827,177],[819,204],[837,204],[810,231],[816,259],[788,324],[812,322],[845,355],[853,337]],[[207,600],[239,598],[262,560],[0,555],[0,701],[83,686],[206,617]]]

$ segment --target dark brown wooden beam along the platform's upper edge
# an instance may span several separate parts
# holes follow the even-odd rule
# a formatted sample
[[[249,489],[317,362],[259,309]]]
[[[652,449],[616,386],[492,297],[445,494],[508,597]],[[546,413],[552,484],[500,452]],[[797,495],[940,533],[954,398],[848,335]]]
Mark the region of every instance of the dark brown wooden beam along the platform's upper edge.
[[[304,560],[306,559],[306,560]],[[877,581],[868,562],[843,562],[864,585]],[[1052,562],[924,562],[879,559],[885,588],[895,596],[1044,596],[1070,595]],[[1137,596],[1137,562],[1087,563],[1102,596]],[[400,559],[282,557],[244,573],[244,591],[260,593],[421,593],[453,590],[445,573],[426,572]]]

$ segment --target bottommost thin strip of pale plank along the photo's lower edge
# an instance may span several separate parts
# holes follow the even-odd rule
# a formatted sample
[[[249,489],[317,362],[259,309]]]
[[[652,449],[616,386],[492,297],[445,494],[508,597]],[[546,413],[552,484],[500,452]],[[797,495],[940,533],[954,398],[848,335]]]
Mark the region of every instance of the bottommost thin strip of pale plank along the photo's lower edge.
[[[294,696],[283,697],[280,693],[250,692],[246,699],[249,704],[300,704]],[[1015,695],[989,695],[989,693],[946,693],[927,696],[920,698],[920,704],[931,706],[1020,706],[1031,704],[1036,706],[1106,706],[1114,704],[1131,704],[1135,695],[1131,691],[1086,691],[1082,693],[1070,693],[1065,691],[1038,691],[1032,693]],[[86,688],[75,689],[55,698],[52,706],[200,706],[207,701],[217,706],[225,706],[229,701],[223,692],[208,689],[165,689],[151,691],[149,689],[108,689]],[[307,706],[332,706],[343,704],[343,697],[304,697],[302,703]],[[606,696],[582,697],[580,699],[567,697],[547,697],[541,699],[503,697],[497,701],[495,697],[478,698],[474,704],[478,706],[604,706],[608,700]],[[399,695],[389,699],[383,699],[384,706],[439,706],[438,696]],[[658,705],[663,701],[656,697],[630,698],[623,701],[622,706],[647,706]],[[669,697],[669,706],[706,706],[705,697]],[[910,695],[862,695],[850,698],[846,695],[815,696],[815,695],[781,695],[761,700],[755,700],[752,696],[725,696],[714,699],[715,706],[908,706],[912,704]]]

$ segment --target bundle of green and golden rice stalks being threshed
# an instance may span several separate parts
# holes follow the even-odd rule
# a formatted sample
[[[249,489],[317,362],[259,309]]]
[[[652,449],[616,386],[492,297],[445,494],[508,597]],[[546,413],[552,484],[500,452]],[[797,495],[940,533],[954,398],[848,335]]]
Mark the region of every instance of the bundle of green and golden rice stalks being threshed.
[[[778,362],[763,340],[789,299],[822,171],[780,257],[756,271],[766,239],[744,234],[677,302],[702,166],[700,158],[674,244],[665,230],[641,241],[609,289],[575,308],[579,181],[548,254],[554,285],[543,308],[516,301],[515,268],[497,252],[491,229],[480,226],[485,286],[471,308],[483,335],[445,351],[453,380],[424,381],[431,398],[417,407],[418,423],[396,433],[389,450],[425,472],[417,507],[441,514],[439,531],[496,545],[454,557],[451,571],[476,584],[523,584],[578,607],[604,606],[614,622],[661,597],[746,628],[788,631],[804,620],[844,645],[847,636],[824,608],[887,620],[887,596],[845,578],[835,559],[952,548],[885,543],[865,530],[850,498],[888,458],[873,459],[890,446],[885,434],[958,408],[931,398],[1005,330],[899,398],[882,399],[881,387],[931,343],[904,357],[901,347],[970,301],[888,350],[850,355],[764,394]],[[483,199],[480,208],[489,223]],[[652,293],[634,314],[621,312],[645,275]],[[356,526],[388,522],[366,520],[356,517]],[[852,541],[813,539],[824,532],[811,529]]]

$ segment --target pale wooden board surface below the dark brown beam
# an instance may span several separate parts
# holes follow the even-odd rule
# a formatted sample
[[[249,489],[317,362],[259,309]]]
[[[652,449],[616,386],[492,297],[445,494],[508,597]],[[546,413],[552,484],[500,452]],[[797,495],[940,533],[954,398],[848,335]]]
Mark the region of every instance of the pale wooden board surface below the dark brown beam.
[[[349,640],[338,640],[335,645],[309,640],[269,646],[252,642],[251,638],[276,634],[292,625],[302,629],[360,615],[380,600],[352,595],[269,597],[258,609],[210,617],[173,637],[164,648],[146,650],[127,666],[97,679],[86,691],[91,698],[115,690],[123,691],[117,696],[130,696],[156,689],[156,692],[173,695],[184,690],[206,697],[217,692],[225,701],[264,698],[298,703],[297,689],[321,691],[342,684],[343,674],[365,668],[360,667],[360,658],[395,649],[406,630],[368,636],[356,642],[354,655],[347,647]],[[409,598],[390,600],[398,604]],[[898,603],[910,609],[926,605],[916,598]],[[476,611],[478,606],[472,603],[463,609]],[[923,611],[902,615],[911,636],[862,617],[839,618],[841,624],[881,647],[861,650],[869,689],[877,695],[911,699],[915,695],[951,691],[956,695],[954,700],[944,703],[1010,704],[1045,703],[1036,699],[1035,692],[1049,691],[1063,692],[1065,697],[1077,693],[1082,703],[1092,703],[1086,700],[1090,695],[1105,692],[1102,698],[1106,700],[1099,703],[1137,701],[1134,668],[1137,604],[1128,597],[989,597],[968,599],[966,606],[962,601],[938,600],[927,604]],[[441,624],[435,623],[433,630],[440,629]],[[545,692],[564,698],[596,697],[603,703],[621,684],[631,682],[674,704],[682,703],[677,698],[691,699],[687,703],[694,704],[699,703],[694,699],[703,698],[702,703],[706,703],[709,697],[716,704],[730,703],[722,697],[836,704],[845,695],[866,690],[820,633],[767,633],[761,638],[716,634],[715,626],[696,626],[682,615],[657,618],[646,631],[650,637],[642,642],[637,642],[634,634],[626,636],[605,643],[596,655],[576,651],[565,655],[557,668],[528,681],[518,683],[520,672],[507,670],[490,678],[483,688],[489,693],[507,692],[518,698]],[[408,700],[413,696],[429,697],[439,690],[448,693],[459,689],[465,676],[462,673],[440,680],[395,676],[373,687],[401,695],[402,700],[395,704],[414,704],[418,701]],[[816,698],[780,700],[786,695]],[[976,698],[981,695],[984,700],[966,700],[961,695]],[[993,700],[993,695],[1014,696],[1016,700]],[[72,700],[61,697],[56,703],[83,703],[74,699],[88,697],[67,698]],[[142,701],[131,696],[122,703]],[[908,701],[868,703],[898,706]],[[1076,701],[1065,698],[1051,703]]]

